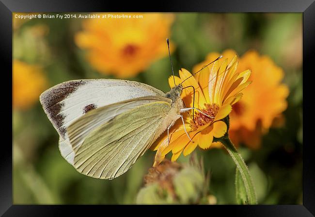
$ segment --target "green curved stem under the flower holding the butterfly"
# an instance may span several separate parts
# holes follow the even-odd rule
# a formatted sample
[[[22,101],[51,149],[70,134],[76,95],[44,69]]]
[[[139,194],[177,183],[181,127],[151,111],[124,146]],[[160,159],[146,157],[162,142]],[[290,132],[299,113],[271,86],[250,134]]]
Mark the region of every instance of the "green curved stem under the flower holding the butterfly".
[[[254,185],[252,183],[252,177],[242,156],[236,150],[228,134],[224,135],[218,140],[223,144],[224,148],[229,152],[230,156],[232,157],[236,164],[236,167],[241,175],[241,178],[246,189],[248,204],[257,204],[256,192]]]

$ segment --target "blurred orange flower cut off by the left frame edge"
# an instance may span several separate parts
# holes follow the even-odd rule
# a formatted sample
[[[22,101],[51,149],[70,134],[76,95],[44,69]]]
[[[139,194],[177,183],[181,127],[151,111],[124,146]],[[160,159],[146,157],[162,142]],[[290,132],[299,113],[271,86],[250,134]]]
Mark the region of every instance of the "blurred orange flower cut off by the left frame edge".
[[[47,80],[36,65],[14,60],[13,62],[13,108],[27,109],[38,102],[46,89]]]

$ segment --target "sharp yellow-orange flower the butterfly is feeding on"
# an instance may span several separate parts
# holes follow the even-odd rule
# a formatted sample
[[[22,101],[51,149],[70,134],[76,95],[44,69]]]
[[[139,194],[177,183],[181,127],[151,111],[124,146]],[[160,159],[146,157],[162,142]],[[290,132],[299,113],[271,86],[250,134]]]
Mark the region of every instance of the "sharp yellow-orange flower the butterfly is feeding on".
[[[218,58],[219,55],[216,56]],[[215,58],[215,59],[216,59]],[[185,126],[189,137],[185,133],[182,122],[177,121],[170,131],[170,141],[168,144],[167,132],[162,134],[152,147],[157,150],[154,166],[159,164],[165,155],[172,150],[172,161],[175,161],[183,152],[184,156],[189,155],[199,146],[208,149],[214,137],[221,138],[227,131],[227,125],[223,118],[227,117],[232,111],[232,105],[241,99],[241,91],[246,88],[251,81],[247,81],[251,75],[251,70],[241,73],[236,72],[238,65],[237,56],[231,61],[220,59],[213,64],[205,67],[197,73],[195,77],[186,69],[179,71],[180,78],[175,76],[175,82],[183,85],[181,95],[186,107],[193,107],[193,86],[195,89],[194,106],[202,112],[195,111],[184,113]],[[198,75],[199,74],[199,75]],[[173,77],[169,79],[171,87]],[[187,87],[187,88],[186,88]]]

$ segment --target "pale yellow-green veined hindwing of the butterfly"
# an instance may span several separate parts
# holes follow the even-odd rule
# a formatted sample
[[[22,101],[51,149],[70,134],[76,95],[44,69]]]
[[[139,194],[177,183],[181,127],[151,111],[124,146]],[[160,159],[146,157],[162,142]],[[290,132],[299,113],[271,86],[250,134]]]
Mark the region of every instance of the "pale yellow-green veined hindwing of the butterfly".
[[[110,119],[107,114],[112,105],[95,109],[69,126],[73,165],[80,173],[100,179],[120,176],[165,130],[161,125],[171,110],[170,99],[143,97],[117,104],[134,103],[138,106]]]

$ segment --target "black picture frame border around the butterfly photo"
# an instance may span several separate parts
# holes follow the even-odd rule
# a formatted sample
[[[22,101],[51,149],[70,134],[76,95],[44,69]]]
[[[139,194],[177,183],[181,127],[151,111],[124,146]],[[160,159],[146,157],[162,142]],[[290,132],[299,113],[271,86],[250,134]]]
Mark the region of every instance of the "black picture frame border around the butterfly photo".
[[[123,7],[122,7],[123,6]],[[2,76],[2,95],[7,100],[1,106],[2,114],[12,108],[12,98],[7,92],[10,88],[10,70],[12,71],[12,13],[13,12],[99,12],[99,11],[143,11],[143,12],[300,12],[303,13],[303,205],[215,205],[199,206],[203,211],[236,216],[285,216],[311,217],[315,215],[315,157],[314,143],[311,142],[312,101],[311,94],[312,74],[314,74],[315,53],[315,2],[314,0],[211,0],[211,1],[180,1],[160,0],[156,2],[126,1],[88,1],[88,0],[0,0],[0,61],[6,68]],[[3,67],[2,67],[3,68]],[[9,84],[9,85],[6,85]],[[12,84],[12,83],[11,83]],[[313,84],[314,85],[314,84]],[[12,86],[11,86],[12,90]],[[7,102],[7,104],[5,103]],[[8,106],[10,105],[11,106]],[[6,104],[6,105],[4,105]],[[5,115],[3,116],[5,117]],[[8,120],[9,121],[9,120]],[[309,126],[308,126],[309,125]],[[1,129],[8,130],[10,124],[2,124]],[[11,128],[12,129],[12,128]],[[8,137],[4,132],[3,137]],[[13,134],[12,134],[13,138]],[[12,143],[11,143],[12,144]],[[12,146],[9,142],[2,142],[0,156],[0,215],[3,216],[61,216],[74,212],[90,213],[104,211],[100,206],[61,206],[61,205],[14,205],[12,198]],[[129,209],[131,206],[126,206]],[[133,206],[134,207],[134,206]],[[168,206],[169,207],[169,206]],[[108,209],[108,208],[106,208]],[[178,207],[177,207],[178,209]],[[181,206],[179,209],[186,210]],[[116,209],[117,210],[117,209]],[[141,207],[142,212],[150,215],[155,207]],[[91,213],[91,211],[93,213]],[[117,210],[118,211],[118,210]],[[201,212],[201,211],[200,211]],[[104,215],[106,215],[104,213]],[[169,215],[169,214],[165,214]]]

